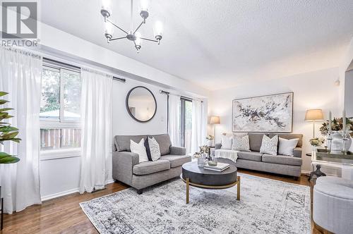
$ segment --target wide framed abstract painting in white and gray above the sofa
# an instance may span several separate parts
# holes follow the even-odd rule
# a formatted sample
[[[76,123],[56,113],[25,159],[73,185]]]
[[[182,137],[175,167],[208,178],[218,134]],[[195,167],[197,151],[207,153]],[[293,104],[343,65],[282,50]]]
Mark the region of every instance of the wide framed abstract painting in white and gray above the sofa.
[[[233,100],[233,132],[292,133],[293,92]]]

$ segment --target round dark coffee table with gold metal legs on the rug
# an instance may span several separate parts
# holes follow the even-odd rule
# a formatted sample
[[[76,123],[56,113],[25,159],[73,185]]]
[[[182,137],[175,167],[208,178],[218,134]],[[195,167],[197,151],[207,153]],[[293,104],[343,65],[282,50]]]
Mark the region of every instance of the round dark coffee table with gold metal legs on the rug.
[[[183,164],[181,180],[186,183],[186,204],[189,203],[189,186],[205,189],[225,189],[237,187],[237,200],[240,200],[240,176],[237,176],[237,167],[229,164],[225,171],[211,171],[198,166],[196,161]]]

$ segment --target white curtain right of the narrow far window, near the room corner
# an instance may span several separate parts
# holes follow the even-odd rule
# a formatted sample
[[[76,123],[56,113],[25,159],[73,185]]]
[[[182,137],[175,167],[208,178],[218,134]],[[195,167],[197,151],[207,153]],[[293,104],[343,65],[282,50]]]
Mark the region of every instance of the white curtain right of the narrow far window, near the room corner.
[[[193,100],[191,152],[198,152],[201,145],[205,144],[205,106],[199,100]]]

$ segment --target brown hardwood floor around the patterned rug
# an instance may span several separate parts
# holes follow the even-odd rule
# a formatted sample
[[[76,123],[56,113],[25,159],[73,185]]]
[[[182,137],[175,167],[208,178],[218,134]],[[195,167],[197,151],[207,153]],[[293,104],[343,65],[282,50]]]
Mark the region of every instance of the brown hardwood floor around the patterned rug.
[[[282,180],[288,183],[299,185],[309,185],[307,176],[301,176],[299,180],[293,180],[292,177],[274,176],[272,174],[258,173],[254,171],[240,170],[241,173],[248,173],[254,176]],[[85,216],[78,205],[95,197],[101,197],[113,192],[126,189],[126,185],[112,183],[107,185],[105,190],[80,195],[66,195],[56,199],[43,202],[41,205],[28,207],[24,211],[11,215],[4,215],[5,233],[97,233],[95,227]],[[312,202],[312,201],[311,201]],[[313,223],[312,223],[313,226]],[[312,228],[313,233],[322,233],[317,228]]]

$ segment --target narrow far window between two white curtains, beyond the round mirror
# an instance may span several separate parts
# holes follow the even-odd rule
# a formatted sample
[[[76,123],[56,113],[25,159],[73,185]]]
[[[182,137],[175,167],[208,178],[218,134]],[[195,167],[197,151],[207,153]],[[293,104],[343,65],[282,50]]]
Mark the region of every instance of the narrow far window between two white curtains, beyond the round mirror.
[[[180,99],[180,142],[186,148],[186,154],[191,154],[193,104],[189,99]]]

